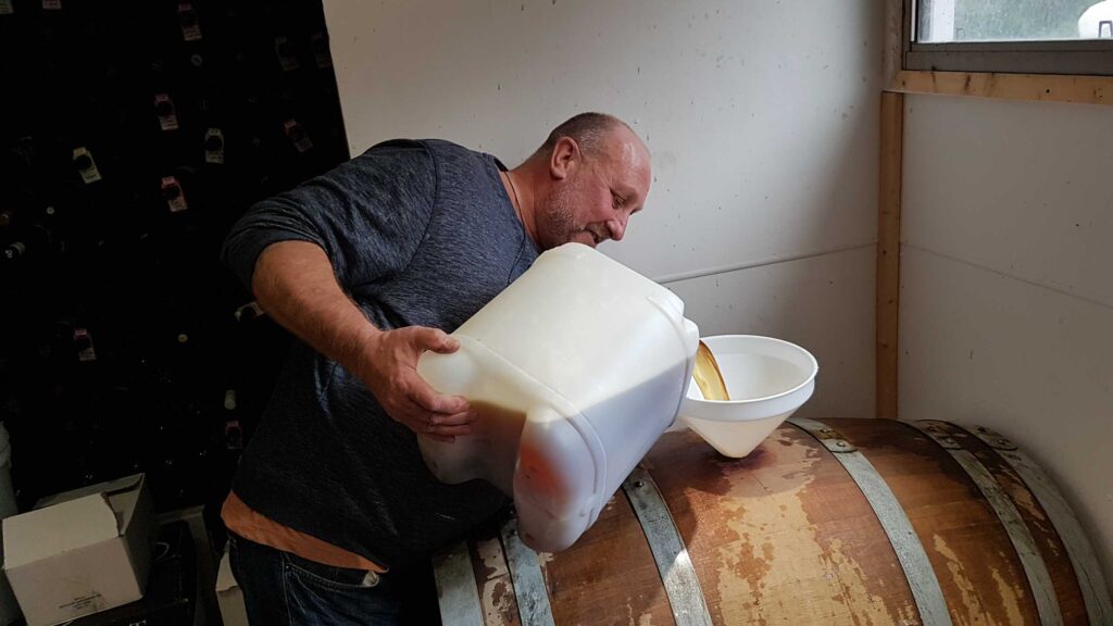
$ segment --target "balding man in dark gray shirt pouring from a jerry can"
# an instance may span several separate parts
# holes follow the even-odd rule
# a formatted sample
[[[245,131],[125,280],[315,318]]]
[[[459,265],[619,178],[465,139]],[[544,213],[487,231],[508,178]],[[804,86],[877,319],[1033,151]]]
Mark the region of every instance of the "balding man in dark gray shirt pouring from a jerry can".
[[[466,437],[474,417],[418,356],[455,351],[445,333],[540,251],[621,239],[650,182],[626,124],[581,114],[509,172],[446,141],[380,144],[233,227],[225,261],[301,339],[221,511],[253,624],[429,623],[403,605],[431,552],[508,499],[425,467],[416,436]]]

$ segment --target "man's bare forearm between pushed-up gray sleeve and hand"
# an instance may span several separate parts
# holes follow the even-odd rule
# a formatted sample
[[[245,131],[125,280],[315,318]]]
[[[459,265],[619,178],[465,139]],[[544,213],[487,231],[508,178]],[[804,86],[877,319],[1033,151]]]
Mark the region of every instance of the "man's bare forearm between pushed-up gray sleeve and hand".
[[[380,332],[337,284],[316,244],[267,246],[255,264],[252,290],[259,307],[283,327],[353,372],[361,345]]]

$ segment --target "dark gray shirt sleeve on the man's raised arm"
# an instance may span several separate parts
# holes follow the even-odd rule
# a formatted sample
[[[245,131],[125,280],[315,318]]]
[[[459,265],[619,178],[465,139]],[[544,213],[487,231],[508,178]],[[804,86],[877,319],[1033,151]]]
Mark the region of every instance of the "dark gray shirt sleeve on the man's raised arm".
[[[341,287],[397,274],[433,215],[436,167],[418,141],[390,141],[253,205],[225,238],[221,258],[252,288],[263,250],[284,241],[321,246]]]

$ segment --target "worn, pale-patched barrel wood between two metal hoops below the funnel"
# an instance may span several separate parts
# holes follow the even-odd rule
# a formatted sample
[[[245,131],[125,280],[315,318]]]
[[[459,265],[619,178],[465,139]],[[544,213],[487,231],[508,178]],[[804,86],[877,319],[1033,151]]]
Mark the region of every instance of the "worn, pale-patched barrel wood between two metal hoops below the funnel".
[[[902,624],[916,615],[873,510],[807,433],[786,426],[745,459],[674,433],[643,464],[717,624]]]

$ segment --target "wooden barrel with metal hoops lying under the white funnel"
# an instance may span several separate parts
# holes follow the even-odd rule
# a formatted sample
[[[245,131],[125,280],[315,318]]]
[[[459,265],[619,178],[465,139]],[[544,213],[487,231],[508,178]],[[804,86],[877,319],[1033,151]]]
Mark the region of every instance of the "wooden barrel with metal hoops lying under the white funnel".
[[[745,459],[661,438],[571,548],[513,520],[436,559],[444,624],[1113,624],[1076,519],[1007,439],[791,420]]]

